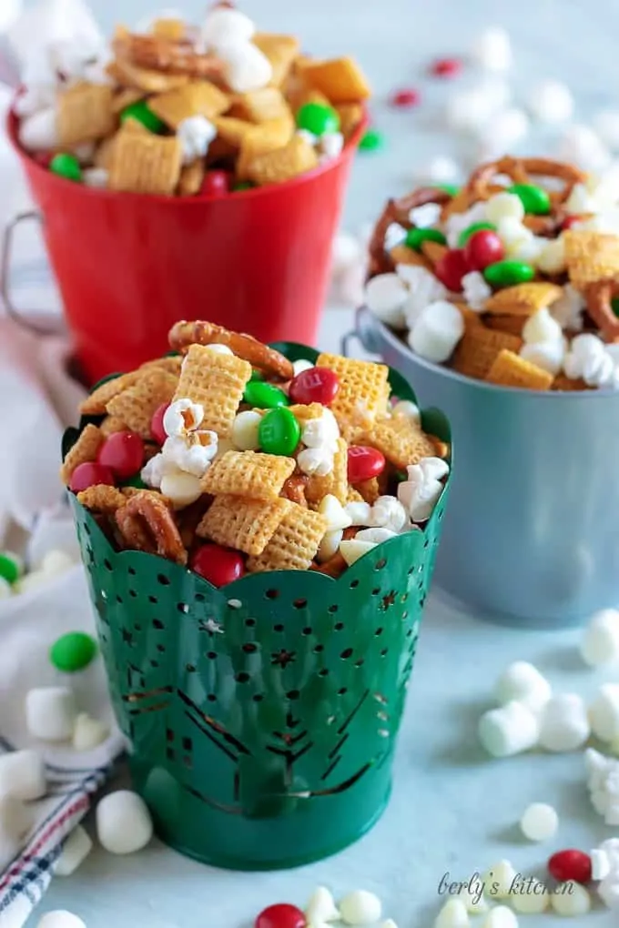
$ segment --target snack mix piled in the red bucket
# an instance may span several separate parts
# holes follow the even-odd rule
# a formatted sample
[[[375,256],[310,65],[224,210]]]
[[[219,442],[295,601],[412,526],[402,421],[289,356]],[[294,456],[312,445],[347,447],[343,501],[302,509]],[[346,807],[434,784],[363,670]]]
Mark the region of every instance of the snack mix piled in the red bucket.
[[[107,65],[57,67],[58,86],[30,84],[15,106],[22,148],[89,187],[193,197],[283,183],[340,155],[370,93],[352,58],[302,55],[227,5],[201,28],[119,27],[111,50]]]

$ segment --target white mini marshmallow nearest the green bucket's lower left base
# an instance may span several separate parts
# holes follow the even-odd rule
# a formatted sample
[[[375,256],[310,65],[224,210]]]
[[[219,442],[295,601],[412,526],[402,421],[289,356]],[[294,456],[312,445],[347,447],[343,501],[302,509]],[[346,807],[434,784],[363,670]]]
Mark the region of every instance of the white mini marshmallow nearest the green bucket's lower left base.
[[[97,838],[110,854],[135,854],[152,838],[148,806],[130,790],[109,793],[97,806]]]

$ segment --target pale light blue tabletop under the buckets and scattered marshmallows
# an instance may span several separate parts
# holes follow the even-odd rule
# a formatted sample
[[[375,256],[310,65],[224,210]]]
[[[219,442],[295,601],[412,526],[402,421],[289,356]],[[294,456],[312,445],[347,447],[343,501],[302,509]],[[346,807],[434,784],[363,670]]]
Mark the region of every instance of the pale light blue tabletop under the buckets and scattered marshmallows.
[[[94,0],[92,6],[107,30],[117,19],[133,24],[153,8],[150,0]],[[192,0],[183,8],[195,17],[203,4]],[[566,80],[584,118],[611,103],[616,90],[619,6],[612,0],[597,6],[583,0],[248,0],[243,8],[264,29],[302,35],[316,55],[355,53],[374,84],[375,121],[388,146],[384,154],[355,163],[344,222],[351,230],[375,217],[387,195],[412,188],[414,170],[428,157],[458,151],[438,129],[431,105],[445,96],[447,86],[432,84],[423,70],[429,59],[464,51],[484,25],[509,28],[519,93],[537,78]],[[419,86],[427,106],[415,112],[384,107],[380,100],[400,85]],[[537,153],[533,144],[523,150]],[[349,321],[342,316],[339,328]],[[329,321],[329,342],[322,345],[337,347],[331,342],[338,325]],[[483,625],[431,599],[392,803],[362,842],[313,867],[260,875],[209,870],[159,844],[128,858],[97,850],[73,877],[53,883],[29,928],[44,911],[59,908],[80,914],[87,928],[250,928],[264,906],[277,900],[303,905],[318,883],[329,884],[336,894],[358,886],[372,889],[399,928],[432,928],[445,871],[466,879],[508,857],[531,873],[553,850],[596,846],[613,831],[589,806],[582,754],[489,762],[475,736],[494,680],[513,660],[535,661],[557,690],[592,694],[600,675],[579,661],[578,637],[578,632],[526,633]],[[559,835],[548,848],[523,843],[514,827],[534,801],[554,804],[561,815]],[[598,911],[577,923],[610,928],[616,918]],[[522,924],[531,928],[554,923],[559,920],[548,915],[522,916]]]

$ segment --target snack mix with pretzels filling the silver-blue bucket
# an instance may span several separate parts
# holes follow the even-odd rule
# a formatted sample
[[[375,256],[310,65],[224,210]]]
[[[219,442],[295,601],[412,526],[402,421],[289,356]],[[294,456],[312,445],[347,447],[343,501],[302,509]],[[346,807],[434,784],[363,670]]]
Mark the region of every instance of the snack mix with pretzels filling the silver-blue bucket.
[[[619,389],[619,176],[505,157],[390,200],[365,299],[415,354],[528,390]]]

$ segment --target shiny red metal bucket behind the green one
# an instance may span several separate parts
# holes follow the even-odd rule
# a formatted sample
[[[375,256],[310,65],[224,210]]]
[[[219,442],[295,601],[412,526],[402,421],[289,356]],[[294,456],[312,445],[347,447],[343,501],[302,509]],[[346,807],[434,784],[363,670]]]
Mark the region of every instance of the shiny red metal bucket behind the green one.
[[[182,199],[71,183],[19,148],[17,128],[11,113],[8,134],[89,383],[163,354],[178,319],[263,342],[315,342],[362,125],[339,158],[285,184]]]

